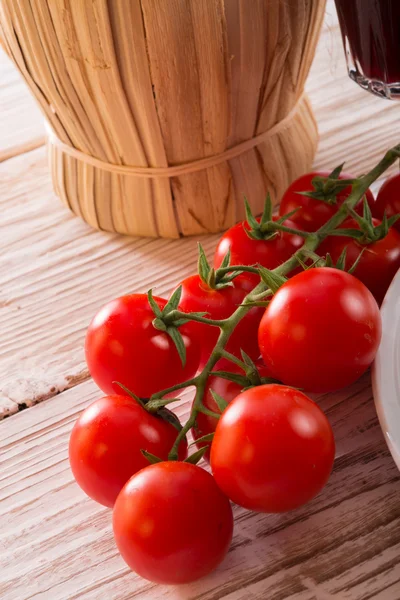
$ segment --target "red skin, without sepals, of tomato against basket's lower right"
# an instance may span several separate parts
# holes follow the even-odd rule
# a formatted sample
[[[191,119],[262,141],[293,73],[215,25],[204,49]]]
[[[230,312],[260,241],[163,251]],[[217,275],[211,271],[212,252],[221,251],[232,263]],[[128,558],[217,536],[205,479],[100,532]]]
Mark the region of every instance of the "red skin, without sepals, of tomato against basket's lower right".
[[[288,187],[283,195],[281,204],[279,207],[279,214],[286,215],[295,208],[300,208],[294,215],[290,217],[291,221],[296,223],[297,229],[301,228],[304,231],[316,231],[324,223],[326,223],[336,213],[337,209],[343,204],[351,193],[351,186],[345,188],[337,195],[336,204],[328,204],[323,200],[315,200],[314,198],[308,198],[302,196],[298,192],[308,192],[313,190],[312,180],[314,177],[328,177],[329,173],[326,171],[315,171],[302,175]],[[348,173],[342,173],[339,179],[353,179],[352,175]],[[367,202],[370,207],[374,204],[374,196],[371,190],[366,193]],[[362,214],[362,202],[357,205],[356,211]]]

